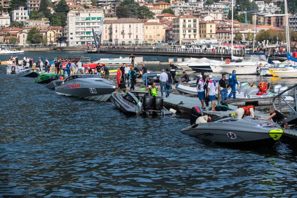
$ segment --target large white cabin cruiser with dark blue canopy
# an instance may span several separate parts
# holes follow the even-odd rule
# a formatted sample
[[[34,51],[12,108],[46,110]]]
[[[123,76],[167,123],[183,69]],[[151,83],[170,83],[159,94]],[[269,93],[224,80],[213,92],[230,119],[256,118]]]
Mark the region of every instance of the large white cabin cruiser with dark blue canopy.
[[[258,74],[259,66],[271,66],[264,53],[248,53],[242,59],[242,62],[230,62],[229,64],[220,65],[226,73],[232,74],[236,70],[236,75]]]

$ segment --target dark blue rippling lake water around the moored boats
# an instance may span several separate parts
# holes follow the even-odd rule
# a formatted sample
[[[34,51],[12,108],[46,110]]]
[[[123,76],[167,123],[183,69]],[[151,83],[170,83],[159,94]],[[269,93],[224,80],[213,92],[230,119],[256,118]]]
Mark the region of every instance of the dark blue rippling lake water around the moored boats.
[[[179,115],[128,117],[33,81],[0,69],[0,197],[297,197],[283,142],[219,147],[181,134]]]

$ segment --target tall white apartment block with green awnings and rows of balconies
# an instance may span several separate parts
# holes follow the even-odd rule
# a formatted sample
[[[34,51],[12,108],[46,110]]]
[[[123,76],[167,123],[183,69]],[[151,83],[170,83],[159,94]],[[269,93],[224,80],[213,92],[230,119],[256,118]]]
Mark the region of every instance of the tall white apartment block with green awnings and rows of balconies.
[[[98,8],[76,9],[67,13],[67,27],[64,30],[68,46],[90,45],[94,43],[92,28],[97,33],[103,10]]]

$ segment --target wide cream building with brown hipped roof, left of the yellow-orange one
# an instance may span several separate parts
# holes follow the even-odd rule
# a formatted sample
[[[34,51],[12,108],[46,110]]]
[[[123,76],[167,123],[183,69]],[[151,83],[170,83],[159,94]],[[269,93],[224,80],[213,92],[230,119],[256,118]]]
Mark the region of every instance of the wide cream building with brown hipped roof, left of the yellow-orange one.
[[[136,18],[105,20],[103,25],[103,43],[127,45],[144,42],[144,21]]]

